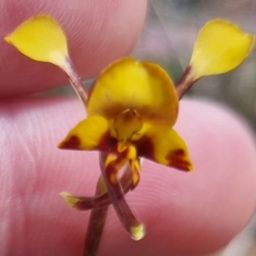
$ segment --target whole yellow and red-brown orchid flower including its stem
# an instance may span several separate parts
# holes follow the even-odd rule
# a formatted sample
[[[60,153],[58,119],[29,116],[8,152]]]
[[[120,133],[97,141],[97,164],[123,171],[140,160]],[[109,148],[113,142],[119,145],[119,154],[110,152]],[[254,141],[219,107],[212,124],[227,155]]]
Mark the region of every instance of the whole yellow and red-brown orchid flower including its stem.
[[[124,198],[139,182],[141,159],[192,170],[188,148],[172,129],[178,101],[198,79],[240,65],[253,48],[254,36],[227,20],[210,20],[201,28],[189,66],[176,88],[159,65],[126,57],[106,67],[89,93],[73,69],[61,26],[50,16],[26,20],[5,40],[33,60],[60,67],[84,103],[87,118],[67,134],[59,148],[100,151],[102,177],[97,191],[102,195],[83,197],[62,192],[61,196],[71,207],[93,208],[85,252],[95,255],[110,203],[131,237],[143,238],[144,225],[133,216]],[[118,178],[123,166],[124,175]]]

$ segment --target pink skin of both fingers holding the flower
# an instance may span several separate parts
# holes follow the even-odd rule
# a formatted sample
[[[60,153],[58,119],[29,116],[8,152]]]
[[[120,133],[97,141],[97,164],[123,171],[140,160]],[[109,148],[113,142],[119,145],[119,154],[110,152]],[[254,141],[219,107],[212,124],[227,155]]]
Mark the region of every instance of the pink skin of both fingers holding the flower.
[[[84,77],[129,52],[146,13],[146,1],[55,2],[2,0],[0,35],[32,15],[54,15]],[[0,44],[0,254],[81,255],[89,212],[67,208],[58,193],[93,195],[97,153],[56,145],[85,117],[83,106],[76,98],[28,96],[67,79]],[[204,255],[224,247],[252,217],[256,149],[247,125],[224,107],[183,100],[175,128],[195,171],[145,160],[141,182],[126,198],[148,234],[131,241],[111,209],[99,255]]]

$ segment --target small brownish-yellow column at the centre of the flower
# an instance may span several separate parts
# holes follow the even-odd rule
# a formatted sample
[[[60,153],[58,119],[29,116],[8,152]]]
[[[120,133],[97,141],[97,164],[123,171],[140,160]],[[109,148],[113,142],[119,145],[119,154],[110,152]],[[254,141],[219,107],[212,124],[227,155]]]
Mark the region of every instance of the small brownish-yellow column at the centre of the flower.
[[[119,113],[113,119],[113,131],[116,132],[116,138],[119,142],[126,143],[131,140],[133,135],[140,131],[143,127],[143,121],[140,115],[134,109],[126,109],[124,112]]]

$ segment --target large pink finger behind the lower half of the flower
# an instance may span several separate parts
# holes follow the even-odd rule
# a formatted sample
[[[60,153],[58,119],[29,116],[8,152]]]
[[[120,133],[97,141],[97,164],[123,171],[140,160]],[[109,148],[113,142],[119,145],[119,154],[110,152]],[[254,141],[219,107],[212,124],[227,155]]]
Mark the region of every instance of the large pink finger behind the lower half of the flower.
[[[0,109],[7,255],[80,255],[89,212],[68,209],[58,193],[93,195],[97,155],[55,145],[84,118],[83,108],[78,101],[32,98]],[[204,254],[223,247],[252,216],[256,153],[246,125],[223,108],[182,101],[176,128],[195,171],[145,161],[138,188],[126,198],[148,234],[131,241],[110,211],[99,255]]]

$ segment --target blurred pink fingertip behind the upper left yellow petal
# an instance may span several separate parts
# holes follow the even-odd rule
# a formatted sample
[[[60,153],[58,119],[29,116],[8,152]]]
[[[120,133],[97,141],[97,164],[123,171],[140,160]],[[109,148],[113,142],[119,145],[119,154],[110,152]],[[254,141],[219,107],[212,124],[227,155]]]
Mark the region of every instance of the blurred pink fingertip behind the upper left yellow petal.
[[[143,28],[147,1],[4,1],[0,37],[4,38],[32,15],[52,15],[67,34],[70,55],[83,78],[127,55]],[[28,94],[64,83],[64,73],[49,64],[29,60],[0,42],[0,97]],[[14,75],[15,74],[15,75]]]

